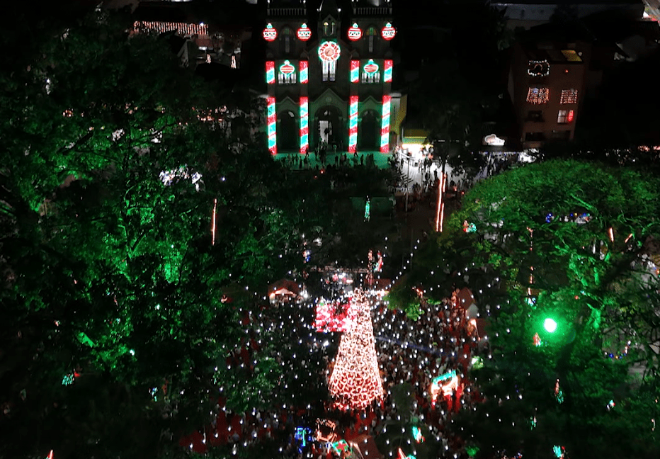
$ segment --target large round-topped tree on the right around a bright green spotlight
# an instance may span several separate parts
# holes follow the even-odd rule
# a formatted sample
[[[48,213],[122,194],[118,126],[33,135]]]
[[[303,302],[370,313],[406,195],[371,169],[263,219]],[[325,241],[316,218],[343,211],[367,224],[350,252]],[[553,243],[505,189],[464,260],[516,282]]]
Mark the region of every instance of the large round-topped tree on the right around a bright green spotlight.
[[[438,251],[469,241],[453,272],[489,286],[471,285],[489,314],[492,358],[470,375],[486,402],[455,424],[482,457],[550,458],[554,445],[570,457],[657,455],[658,185],[635,169],[547,162],[479,183],[450,219]]]

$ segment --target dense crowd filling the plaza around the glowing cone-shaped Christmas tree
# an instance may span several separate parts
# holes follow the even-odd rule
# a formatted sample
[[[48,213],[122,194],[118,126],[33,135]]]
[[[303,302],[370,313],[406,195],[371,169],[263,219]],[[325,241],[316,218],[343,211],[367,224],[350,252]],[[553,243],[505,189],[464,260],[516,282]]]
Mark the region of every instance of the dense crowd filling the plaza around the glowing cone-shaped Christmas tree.
[[[428,432],[442,442],[443,448],[452,454],[460,452],[463,443],[457,436],[450,436],[447,431],[448,422],[460,409],[471,406],[481,398],[479,392],[467,378],[472,356],[477,349],[477,332],[466,317],[465,308],[458,304],[456,294],[448,297],[438,305],[424,303],[425,307],[418,320],[406,318],[402,311],[389,310],[384,305],[372,308],[375,347],[380,364],[385,398],[375,400],[363,412],[342,412],[332,407],[332,401],[326,400],[325,413],[327,419],[334,425],[333,438],[351,442],[363,435],[377,438],[387,431],[387,426],[401,419],[402,416],[414,416],[428,427]],[[293,307],[292,307],[293,306]],[[277,304],[271,307],[279,307]],[[295,334],[301,341],[307,341],[312,351],[323,351],[319,346],[319,336],[311,330],[309,308],[307,305],[288,303],[287,314],[298,311],[300,317],[290,316],[290,323],[300,324],[299,333]],[[249,321],[262,321],[268,317],[275,320],[277,314],[260,314],[259,317],[246,317]],[[338,334],[337,334],[338,335]],[[320,336],[333,339],[331,335]],[[334,336],[338,339],[338,336]],[[252,353],[258,351],[258,336],[246,338],[243,346],[237,347],[227,357],[228,365],[245,365],[254,370]],[[322,361],[329,361],[334,356],[326,356]],[[287,363],[280,359],[278,363]],[[323,365],[319,365],[323,367]],[[325,368],[312,368],[314,378],[323,380],[329,378],[331,365]],[[295,370],[290,368],[289,370]],[[298,369],[300,371],[300,369]],[[443,373],[455,370],[458,384],[448,396],[432,399],[433,378]],[[414,397],[412,412],[403,412],[402,407],[395,406],[393,392],[395,387],[405,387]],[[275,389],[279,390],[279,389]],[[275,397],[275,395],[273,395]],[[321,401],[323,402],[323,401]],[[314,431],[319,413],[314,412],[309,405],[300,404],[297,407],[281,407],[275,411],[251,409],[248,412],[231,412],[225,406],[224,398],[218,399],[217,416],[206,429],[197,431],[181,439],[182,446],[198,452],[206,450],[207,446],[225,446],[237,450],[246,448],[258,441],[275,441],[279,443],[284,457],[288,458],[323,458],[341,457],[341,452],[332,448],[329,442],[314,441]],[[296,435],[298,427],[307,427],[309,438],[302,447],[300,436]],[[381,451],[388,455],[388,451]],[[396,455],[396,451],[394,454]]]

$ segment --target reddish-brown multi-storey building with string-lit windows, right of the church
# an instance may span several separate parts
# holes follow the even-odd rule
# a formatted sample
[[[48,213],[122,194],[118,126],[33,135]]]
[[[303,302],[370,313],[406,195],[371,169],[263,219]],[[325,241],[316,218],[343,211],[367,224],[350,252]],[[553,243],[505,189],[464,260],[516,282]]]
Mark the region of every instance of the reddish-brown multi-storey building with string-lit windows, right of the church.
[[[627,63],[657,52],[659,43],[656,21],[616,9],[519,32],[511,48],[508,94],[520,146],[574,140],[581,121],[592,125],[585,114],[595,113],[603,84],[617,81]]]

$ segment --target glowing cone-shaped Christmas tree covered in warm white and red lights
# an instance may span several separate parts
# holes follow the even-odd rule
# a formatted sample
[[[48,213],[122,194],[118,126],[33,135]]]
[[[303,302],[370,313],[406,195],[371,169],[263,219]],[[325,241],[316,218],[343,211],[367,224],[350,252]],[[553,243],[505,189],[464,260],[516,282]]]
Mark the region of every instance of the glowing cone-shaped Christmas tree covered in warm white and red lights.
[[[330,376],[330,394],[341,409],[365,409],[383,397],[369,302],[362,290],[351,299],[355,322],[339,341],[339,351]]]

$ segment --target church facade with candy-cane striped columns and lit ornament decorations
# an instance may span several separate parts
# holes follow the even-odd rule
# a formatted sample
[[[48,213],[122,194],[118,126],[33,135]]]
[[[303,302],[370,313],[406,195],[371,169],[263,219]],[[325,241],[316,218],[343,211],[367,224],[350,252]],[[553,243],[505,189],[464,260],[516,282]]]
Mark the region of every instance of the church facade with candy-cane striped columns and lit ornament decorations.
[[[392,6],[312,1],[268,3],[268,148],[388,153],[397,142],[401,100],[392,94]]]

